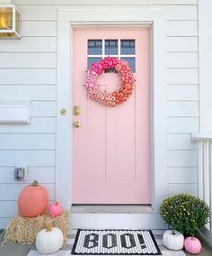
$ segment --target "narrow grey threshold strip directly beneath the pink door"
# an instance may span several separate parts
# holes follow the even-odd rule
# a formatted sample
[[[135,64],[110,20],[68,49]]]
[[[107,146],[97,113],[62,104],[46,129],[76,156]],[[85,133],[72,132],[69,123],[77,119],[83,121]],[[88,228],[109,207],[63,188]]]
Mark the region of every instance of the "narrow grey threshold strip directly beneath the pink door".
[[[153,214],[150,205],[74,205],[71,206],[71,214]]]

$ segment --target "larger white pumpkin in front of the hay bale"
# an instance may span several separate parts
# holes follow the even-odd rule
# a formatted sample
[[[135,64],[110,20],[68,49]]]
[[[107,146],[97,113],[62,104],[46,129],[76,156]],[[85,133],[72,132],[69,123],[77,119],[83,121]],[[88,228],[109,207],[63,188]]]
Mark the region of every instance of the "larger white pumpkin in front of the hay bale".
[[[40,230],[36,237],[36,248],[42,254],[55,253],[62,246],[64,237],[62,231],[57,227],[48,226]]]

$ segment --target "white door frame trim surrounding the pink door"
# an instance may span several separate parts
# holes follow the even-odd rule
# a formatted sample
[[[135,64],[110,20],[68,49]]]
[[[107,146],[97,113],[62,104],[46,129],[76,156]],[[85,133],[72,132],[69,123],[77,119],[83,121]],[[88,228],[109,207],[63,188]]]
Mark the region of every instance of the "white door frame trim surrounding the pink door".
[[[132,15],[129,15],[132,14]],[[102,18],[103,17],[103,18]],[[75,27],[149,27],[151,30],[151,192],[152,207],[168,196],[165,86],[165,20],[163,8],[119,6],[93,10],[84,6],[57,10],[57,150],[56,200],[72,204],[72,71]],[[125,22],[123,22],[125,21]],[[61,109],[66,108],[66,114]],[[66,195],[66,196],[65,196]]]

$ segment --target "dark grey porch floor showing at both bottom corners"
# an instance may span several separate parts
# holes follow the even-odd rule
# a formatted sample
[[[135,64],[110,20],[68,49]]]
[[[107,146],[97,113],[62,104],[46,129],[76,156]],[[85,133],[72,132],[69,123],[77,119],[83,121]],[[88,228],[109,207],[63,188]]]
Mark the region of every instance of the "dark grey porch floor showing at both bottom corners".
[[[2,232],[0,233],[0,244],[2,245],[3,237]],[[208,246],[205,242],[202,242],[202,250],[199,253],[199,256],[212,256],[212,248]],[[212,246],[212,245],[211,245]],[[31,251],[31,245],[22,245],[19,243],[15,244],[7,244],[0,248],[1,256],[27,256],[27,254]],[[190,253],[185,251],[187,256],[190,256]]]

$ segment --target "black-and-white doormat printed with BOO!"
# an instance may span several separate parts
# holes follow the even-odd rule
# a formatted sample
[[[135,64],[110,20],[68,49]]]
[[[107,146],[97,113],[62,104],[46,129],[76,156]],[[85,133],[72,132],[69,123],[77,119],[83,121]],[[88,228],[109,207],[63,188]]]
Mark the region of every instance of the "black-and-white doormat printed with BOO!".
[[[78,229],[72,254],[162,255],[150,230]]]

